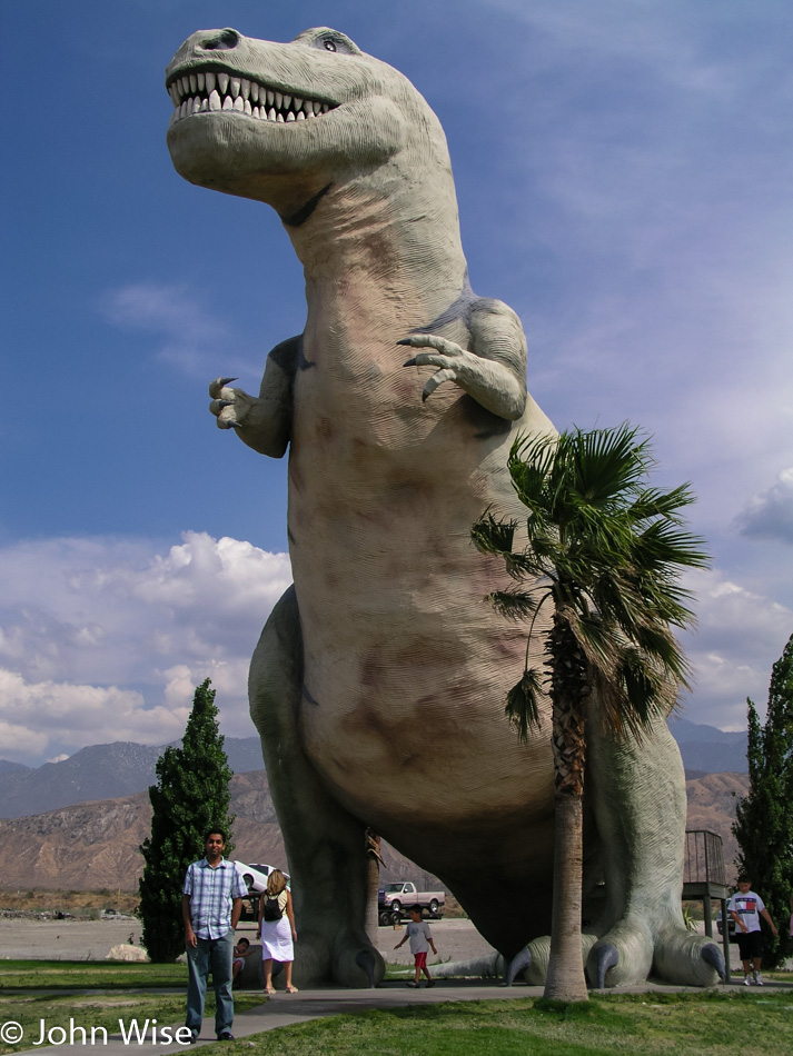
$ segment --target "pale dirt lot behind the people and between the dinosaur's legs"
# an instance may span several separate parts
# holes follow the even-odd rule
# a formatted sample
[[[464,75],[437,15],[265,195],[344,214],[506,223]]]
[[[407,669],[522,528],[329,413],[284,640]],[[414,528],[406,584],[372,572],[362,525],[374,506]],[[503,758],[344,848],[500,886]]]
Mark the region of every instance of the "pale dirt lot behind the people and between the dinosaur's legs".
[[[490,950],[469,920],[432,923],[440,960],[465,960]],[[255,928],[240,928],[240,935],[254,940]],[[405,934],[394,928],[379,928],[378,947],[394,964],[413,964],[406,943],[394,946]],[[135,917],[120,920],[30,920],[0,918],[0,957],[27,960],[105,960],[110,948],[129,942],[140,943],[140,921]],[[298,939],[299,944],[299,939]]]

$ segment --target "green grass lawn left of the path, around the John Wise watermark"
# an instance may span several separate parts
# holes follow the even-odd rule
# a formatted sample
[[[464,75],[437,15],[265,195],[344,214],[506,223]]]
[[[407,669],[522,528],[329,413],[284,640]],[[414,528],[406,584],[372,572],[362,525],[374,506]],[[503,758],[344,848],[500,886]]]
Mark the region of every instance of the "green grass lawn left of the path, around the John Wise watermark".
[[[146,994],[141,987],[176,987],[176,993]],[[28,993],[9,994],[14,988]],[[37,989],[46,988],[46,994]],[[129,1028],[131,1019],[142,1027],[145,1020],[157,1019],[158,1025],[184,1023],[187,967],[185,965],[147,965],[121,963],[90,963],[68,960],[2,960],[0,962],[0,1023],[18,1023],[24,1030],[23,1039],[10,1045],[0,1040],[0,1054],[31,1048],[41,1036],[41,1020],[47,1030],[63,1027],[67,1034],[75,1026],[86,1029],[87,1042],[91,1028],[105,1027],[108,1037],[119,1033],[119,1019]],[[238,1012],[260,1005],[261,994],[235,994]],[[207,995],[206,1017],[211,1023],[215,1003],[211,987]],[[98,1043],[102,1035],[96,1035]],[[54,1040],[60,1036],[56,1035]],[[68,1040],[68,1036],[67,1036]],[[76,1035],[76,1040],[82,1040]],[[44,1048],[44,1045],[41,1046]],[[57,1047],[57,1046],[56,1046]],[[89,1052],[87,1047],[87,1052]],[[99,1050],[101,1046],[99,1045]]]

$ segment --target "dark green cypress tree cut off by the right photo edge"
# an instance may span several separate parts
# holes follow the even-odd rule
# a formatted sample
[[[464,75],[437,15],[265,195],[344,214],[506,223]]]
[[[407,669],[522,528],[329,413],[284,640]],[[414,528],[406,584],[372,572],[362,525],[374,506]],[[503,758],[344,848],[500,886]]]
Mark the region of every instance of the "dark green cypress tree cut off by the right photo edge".
[[[793,894],[793,636],[774,664],[765,725],[754,703],[749,707],[749,795],[735,811],[736,865],[752,878],[776,925],[774,938],[765,921],[763,962],[777,967],[793,956],[790,935]]]

